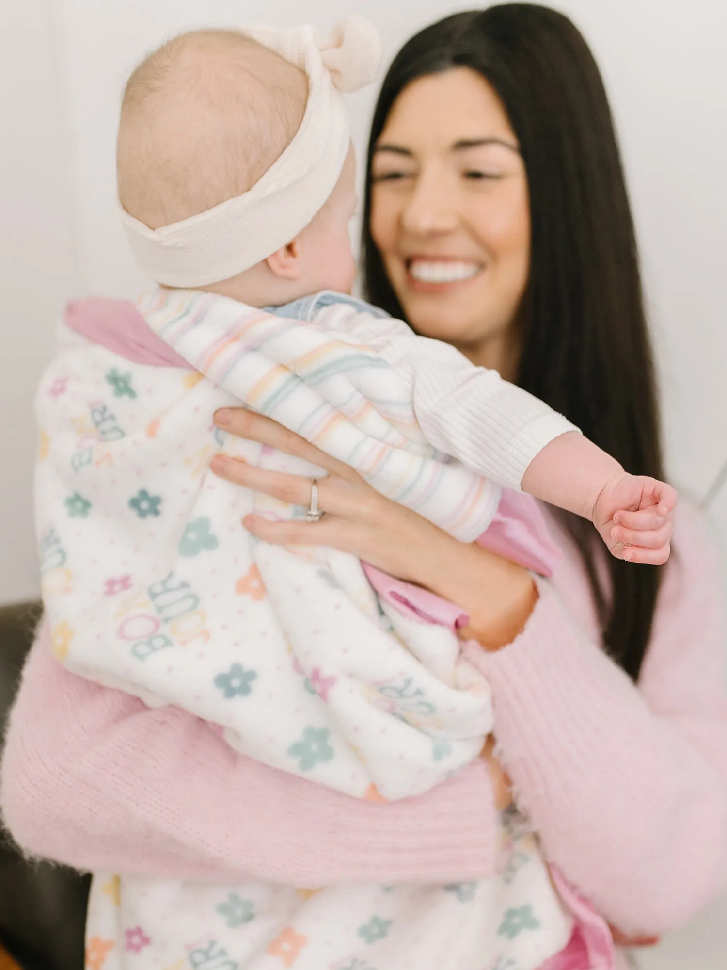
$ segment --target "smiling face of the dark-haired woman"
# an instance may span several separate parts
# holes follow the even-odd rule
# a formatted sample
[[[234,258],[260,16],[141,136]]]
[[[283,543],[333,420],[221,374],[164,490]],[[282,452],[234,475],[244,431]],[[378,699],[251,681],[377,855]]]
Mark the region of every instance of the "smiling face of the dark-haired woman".
[[[512,376],[530,213],[518,142],[490,84],[455,68],[405,87],[371,178],[371,235],[409,323]]]

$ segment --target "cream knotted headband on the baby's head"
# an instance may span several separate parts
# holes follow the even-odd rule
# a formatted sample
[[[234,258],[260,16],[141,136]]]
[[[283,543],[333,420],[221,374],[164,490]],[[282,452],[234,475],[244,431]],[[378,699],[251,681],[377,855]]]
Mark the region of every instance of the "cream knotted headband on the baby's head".
[[[156,230],[121,210],[142,273],[166,286],[194,288],[229,279],[294,239],[331,195],[348,153],[341,92],[357,91],[376,77],[381,42],[363,17],[341,20],[325,41],[309,26],[241,31],[305,71],[305,113],[290,145],[237,199]]]

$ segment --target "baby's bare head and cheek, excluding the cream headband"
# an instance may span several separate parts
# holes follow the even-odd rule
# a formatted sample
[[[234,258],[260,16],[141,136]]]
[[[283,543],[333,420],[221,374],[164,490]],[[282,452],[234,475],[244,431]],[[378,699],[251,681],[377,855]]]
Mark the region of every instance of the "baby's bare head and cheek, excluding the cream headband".
[[[160,230],[244,195],[293,141],[307,99],[305,72],[241,32],[175,37],[126,85],[117,147],[122,208]],[[355,209],[349,150],[328,200],[294,238],[244,272],[196,288],[257,306],[347,291]]]

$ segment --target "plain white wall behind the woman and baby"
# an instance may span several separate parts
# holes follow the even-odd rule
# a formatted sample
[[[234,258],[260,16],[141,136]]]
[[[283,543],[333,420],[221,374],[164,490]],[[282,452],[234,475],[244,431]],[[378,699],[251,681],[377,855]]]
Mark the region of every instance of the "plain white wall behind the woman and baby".
[[[585,32],[616,113],[662,373],[669,471],[705,494],[727,457],[727,3],[553,0]],[[466,6],[466,0],[465,0]],[[238,19],[327,27],[368,16],[390,57],[452,0],[0,0],[0,602],[35,596],[32,397],[64,302],[130,296],[114,211],[122,84],[171,33]],[[364,145],[374,93],[351,99]],[[727,539],[727,489],[715,501]],[[724,970],[727,904],[644,955],[645,970]]]

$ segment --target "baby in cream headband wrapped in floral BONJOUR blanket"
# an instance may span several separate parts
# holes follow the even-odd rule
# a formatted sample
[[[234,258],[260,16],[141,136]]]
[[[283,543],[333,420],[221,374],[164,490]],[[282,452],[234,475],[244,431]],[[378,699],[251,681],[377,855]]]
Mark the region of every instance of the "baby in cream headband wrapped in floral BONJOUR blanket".
[[[356,197],[339,90],[370,81],[377,59],[352,17],[323,45],[309,28],[183,35],[132,75],[119,197],[162,287],[136,307],[69,308],[38,397],[37,522],[59,661],[183,706],[253,758],[386,800],[478,757],[488,686],[441,617],[421,622],[416,590],[392,598],[352,556],[253,540],[246,514],[297,513],[216,478],[216,451],[323,472],[220,435],[213,412],[268,414],[462,541],[503,520],[509,535],[510,515],[530,541],[509,538],[509,553],[546,573],[553,550],[532,506],[503,505],[499,486],[591,518],[612,551],[645,562],[668,555],[675,495],[453,347],[341,295]],[[625,551],[616,516],[633,531]],[[500,876],[476,876],[313,891],[97,874],[88,946],[105,970],[557,961],[578,907],[517,816]]]

